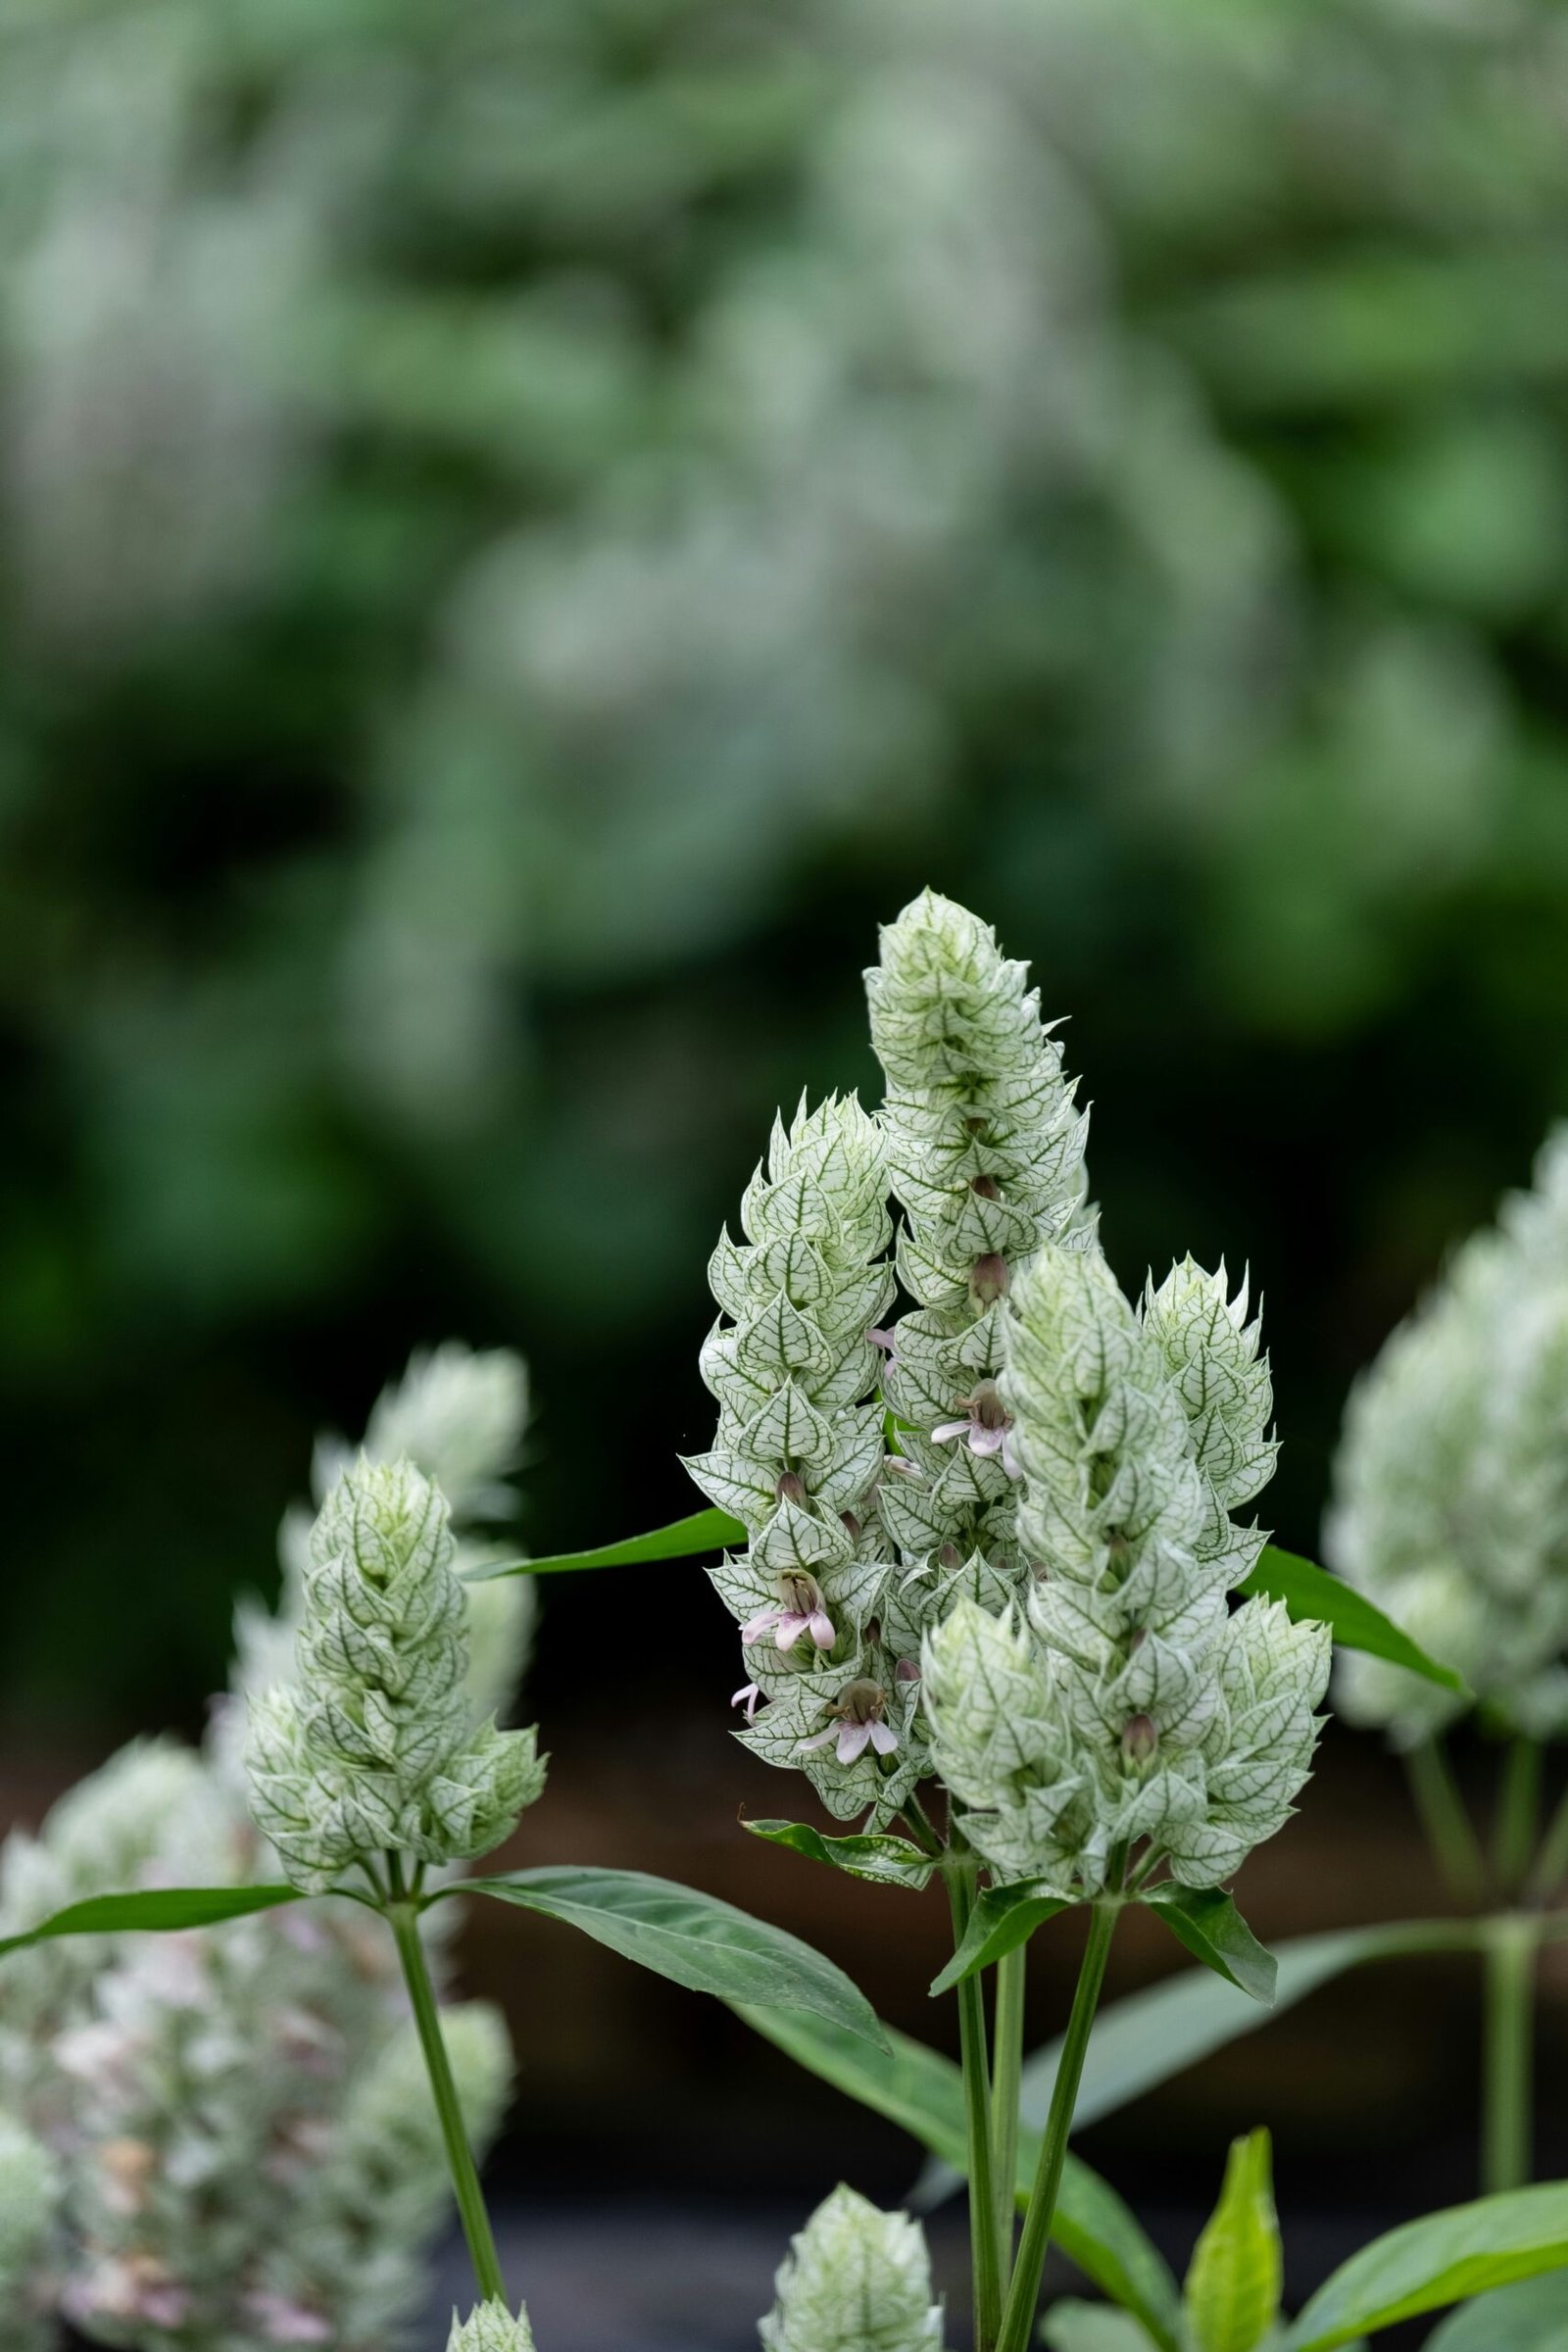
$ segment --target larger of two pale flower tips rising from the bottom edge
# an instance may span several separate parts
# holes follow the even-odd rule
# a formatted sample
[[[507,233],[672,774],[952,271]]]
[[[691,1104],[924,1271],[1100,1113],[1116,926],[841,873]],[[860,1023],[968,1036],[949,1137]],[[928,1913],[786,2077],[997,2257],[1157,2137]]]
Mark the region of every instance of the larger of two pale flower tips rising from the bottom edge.
[[[764,2352],[940,2352],[919,2223],[837,2187],[792,2239],[759,2326]]]

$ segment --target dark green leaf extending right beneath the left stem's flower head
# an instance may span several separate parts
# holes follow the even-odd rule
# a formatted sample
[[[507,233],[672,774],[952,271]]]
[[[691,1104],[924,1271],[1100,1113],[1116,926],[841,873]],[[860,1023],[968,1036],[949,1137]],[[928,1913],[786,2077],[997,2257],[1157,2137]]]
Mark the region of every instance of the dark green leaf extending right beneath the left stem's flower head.
[[[856,2039],[882,2044],[865,1994],[799,1936],[646,1870],[512,1870],[498,1879],[458,1879],[442,1893],[517,1903],[564,1919],[691,1992],[759,2009],[804,2009]]]

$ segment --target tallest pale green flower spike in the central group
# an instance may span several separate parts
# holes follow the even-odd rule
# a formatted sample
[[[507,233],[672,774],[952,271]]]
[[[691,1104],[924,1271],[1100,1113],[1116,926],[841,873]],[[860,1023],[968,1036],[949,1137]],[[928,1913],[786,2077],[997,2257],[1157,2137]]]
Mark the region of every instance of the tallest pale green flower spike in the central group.
[[[898,1272],[919,1301],[891,1336],[884,1385],[910,1475],[889,1482],[884,1517],[936,1588],[936,1618],[954,1578],[985,1583],[990,1566],[1016,1581],[1020,1566],[999,1315],[1044,1242],[1088,1240],[1088,1120],[1025,967],[952,898],[924,891],[884,927],[865,993],[889,1082]]]

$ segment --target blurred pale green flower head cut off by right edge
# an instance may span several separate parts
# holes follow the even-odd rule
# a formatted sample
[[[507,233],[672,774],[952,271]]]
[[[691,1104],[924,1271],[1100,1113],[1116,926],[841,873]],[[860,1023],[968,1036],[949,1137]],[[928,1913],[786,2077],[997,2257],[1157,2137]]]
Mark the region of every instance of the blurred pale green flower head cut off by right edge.
[[[1324,1543],[1502,1724],[1568,1731],[1568,1127],[1352,1390]],[[1469,1705],[1361,1656],[1335,1696],[1399,1748]]]

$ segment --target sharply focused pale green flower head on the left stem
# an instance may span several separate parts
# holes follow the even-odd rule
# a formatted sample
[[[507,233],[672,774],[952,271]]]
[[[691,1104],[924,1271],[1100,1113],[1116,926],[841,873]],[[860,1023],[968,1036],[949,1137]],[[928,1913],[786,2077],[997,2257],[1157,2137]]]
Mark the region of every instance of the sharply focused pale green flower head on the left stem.
[[[310,1536],[299,1684],[252,1700],[256,1825],[296,1886],[355,1863],[489,1853],[543,1788],[534,1731],[473,1719],[468,1623],[437,1486],[362,1458]]]

